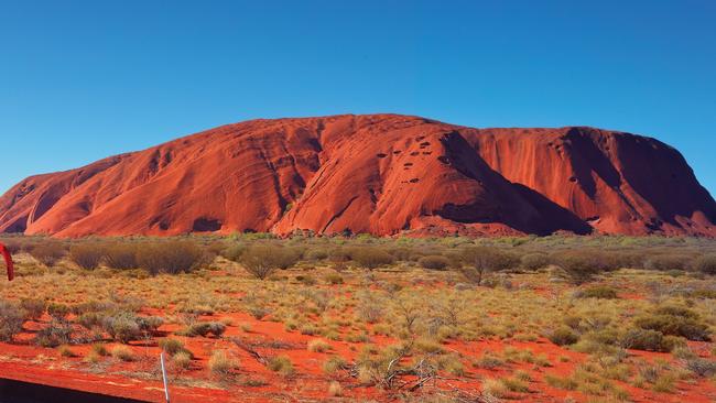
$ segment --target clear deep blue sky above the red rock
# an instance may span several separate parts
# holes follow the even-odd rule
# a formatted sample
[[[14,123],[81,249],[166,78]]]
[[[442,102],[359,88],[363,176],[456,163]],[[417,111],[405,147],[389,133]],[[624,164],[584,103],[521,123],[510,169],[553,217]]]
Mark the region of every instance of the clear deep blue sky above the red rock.
[[[647,134],[714,195],[716,1],[0,0],[0,193],[224,123],[346,112]]]

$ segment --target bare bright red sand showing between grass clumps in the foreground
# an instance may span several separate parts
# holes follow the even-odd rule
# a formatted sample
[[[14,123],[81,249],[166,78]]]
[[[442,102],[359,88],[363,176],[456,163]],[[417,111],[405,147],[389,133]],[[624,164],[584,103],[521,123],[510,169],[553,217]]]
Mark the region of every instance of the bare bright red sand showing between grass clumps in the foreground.
[[[156,312],[148,312],[156,314]],[[242,331],[238,326],[230,326],[227,329],[224,339],[214,338],[185,338],[176,337],[183,340],[186,347],[195,355],[195,360],[189,370],[182,372],[181,377],[185,380],[194,380],[194,385],[181,385],[173,381],[171,393],[174,402],[268,402],[268,401],[324,401],[330,399],[328,395],[328,384],[332,380],[340,381],[344,390],[344,396],[355,400],[378,400],[393,401],[394,395],[389,392],[380,391],[376,388],[365,386],[357,383],[352,378],[345,373],[335,377],[326,375],[322,372],[323,362],[334,353],[352,360],[361,350],[360,344],[348,344],[344,341],[329,341],[332,350],[328,352],[307,351],[306,345],[314,336],[301,335],[297,331],[289,333],[284,329],[283,324],[256,320],[246,314],[223,315],[221,318],[231,318],[235,324],[250,324],[249,333]],[[204,319],[216,319],[204,317]],[[147,347],[142,342],[132,342],[132,349],[138,357],[134,362],[118,362],[110,358],[105,359],[106,368],[104,370],[90,371],[90,364],[83,362],[83,358],[90,349],[89,346],[74,346],[73,351],[78,355],[76,358],[59,357],[55,349],[39,348],[29,342],[32,338],[32,330],[43,326],[40,323],[33,323],[25,328],[26,333],[19,337],[18,344],[0,344],[0,371],[3,377],[21,381],[36,382],[62,388],[77,389],[88,392],[106,393],[123,397],[147,400],[151,402],[162,402],[162,384],[158,380],[132,379],[128,374],[149,372],[158,374],[159,348],[154,341]],[[160,330],[167,333],[177,330],[176,325],[166,325]],[[275,349],[269,347],[259,347],[257,350],[263,356],[286,355],[291,358],[296,370],[292,378],[283,378],[268,370],[259,363],[248,352],[237,348],[229,338],[240,338],[252,342],[281,341],[286,348]],[[387,346],[397,340],[375,336],[371,341],[377,346]],[[552,363],[550,368],[541,368],[529,363],[511,363],[493,370],[476,369],[465,363],[466,374],[464,377],[445,375],[445,380],[435,383],[435,388],[451,391],[460,390],[463,392],[477,395],[480,391],[482,378],[505,378],[510,377],[517,370],[524,370],[532,377],[529,393],[513,393],[510,401],[517,402],[552,402],[557,399],[571,396],[578,402],[587,401],[587,396],[579,392],[563,391],[547,385],[544,382],[544,374],[568,375],[575,367],[584,361],[586,355],[573,352],[560,348],[544,339],[533,342],[484,340],[475,342],[455,342],[451,341],[443,347],[447,351],[455,351],[465,357],[478,358],[486,351],[499,352],[507,346],[512,346],[519,350],[531,350],[535,356],[545,355]],[[111,347],[111,346],[108,346]],[[698,344],[692,346],[695,351],[702,352],[704,357],[708,356],[708,350],[701,349]],[[226,349],[236,359],[239,360],[238,378],[231,383],[225,383],[223,388],[216,388],[221,382],[209,373],[207,369],[208,358],[211,351],[216,349]],[[703,350],[703,351],[702,351]],[[644,351],[630,351],[630,353],[640,356],[649,361],[654,358],[671,360],[671,355],[655,353]],[[567,362],[562,362],[560,357],[568,357]],[[175,378],[176,369],[170,366],[170,377]],[[247,379],[261,380],[263,385],[248,386],[242,385]],[[207,380],[214,380],[216,385],[207,384]],[[716,385],[702,380],[696,383],[680,382],[677,390],[672,394],[654,393],[649,390],[641,390],[628,384],[616,382],[626,389],[634,402],[684,402],[707,403],[716,399]]]

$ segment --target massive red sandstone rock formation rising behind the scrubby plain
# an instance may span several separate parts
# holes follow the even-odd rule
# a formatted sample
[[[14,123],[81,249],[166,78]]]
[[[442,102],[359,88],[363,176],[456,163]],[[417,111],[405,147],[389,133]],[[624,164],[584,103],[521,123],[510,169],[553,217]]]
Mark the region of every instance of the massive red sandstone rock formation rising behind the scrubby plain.
[[[397,115],[252,120],[62,173],[0,198],[0,231],[172,236],[716,236],[674,149],[593,128],[471,129]]]

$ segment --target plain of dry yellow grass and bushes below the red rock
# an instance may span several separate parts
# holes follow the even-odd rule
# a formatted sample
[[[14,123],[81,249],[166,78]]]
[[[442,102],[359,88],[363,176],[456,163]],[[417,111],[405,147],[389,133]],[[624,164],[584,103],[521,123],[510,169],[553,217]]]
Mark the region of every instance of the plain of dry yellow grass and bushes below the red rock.
[[[238,351],[250,351],[291,379],[304,363],[289,347],[246,340],[254,327],[280,323],[305,337],[296,349],[317,355],[332,396],[349,393],[341,383],[350,382],[404,393],[478,379],[485,399],[524,396],[543,382],[622,401],[629,388],[673,393],[679,382],[716,377],[716,242],[707,239],[245,233],[0,242],[18,259],[17,281],[0,288],[0,341],[57,348],[67,359],[72,346],[94,344],[87,366],[141,361],[132,346],[155,339],[176,377],[203,368],[221,388],[259,384],[240,380]],[[238,325],[236,315],[251,323]],[[29,323],[40,329],[29,333]],[[182,341],[197,338],[217,346],[203,360]],[[477,355],[453,347],[496,340],[500,349]],[[516,347],[525,344],[563,355]],[[651,353],[661,356],[640,356]],[[567,363],[566,375],[551,372]]]

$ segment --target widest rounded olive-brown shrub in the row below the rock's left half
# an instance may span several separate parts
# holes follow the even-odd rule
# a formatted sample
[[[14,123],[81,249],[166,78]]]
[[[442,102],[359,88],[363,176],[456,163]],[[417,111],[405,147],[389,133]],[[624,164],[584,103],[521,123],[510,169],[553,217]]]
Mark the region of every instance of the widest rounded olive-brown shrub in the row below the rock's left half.
[[[187,241],[147,243],[138,247],[137,263],[151,274],[188,273],[205,263],[204,251]]]

